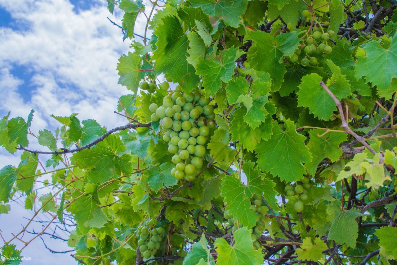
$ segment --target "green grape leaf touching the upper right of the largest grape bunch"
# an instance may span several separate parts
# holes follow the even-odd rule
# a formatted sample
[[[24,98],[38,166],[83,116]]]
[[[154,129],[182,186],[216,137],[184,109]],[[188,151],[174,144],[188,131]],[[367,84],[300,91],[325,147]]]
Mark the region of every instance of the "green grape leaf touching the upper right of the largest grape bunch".
[[[220,59],[199,60],[196,73],[203,76],[203,86],[207,96],[216,93],[222,82],[229,82],[234,74],[235,60],[240,57],[239,48],[231,47],[222,51],[218,56]]]

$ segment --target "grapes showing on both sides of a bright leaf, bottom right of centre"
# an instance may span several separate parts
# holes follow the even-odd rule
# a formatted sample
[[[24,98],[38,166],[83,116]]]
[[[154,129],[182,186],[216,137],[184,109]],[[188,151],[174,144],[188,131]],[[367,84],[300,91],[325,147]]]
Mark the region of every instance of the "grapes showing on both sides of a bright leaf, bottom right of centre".
[[[260,236],[263,233],[263,230],[265,229],[264,218],[266,212],[268,211],[268,207],[263,205],[262,196],[260,195],[254,195],[254,197],[252,197],[250,201],[251,201],[251,208],[252,210],[254,210],[255,215],[258,217],[258,220],[256,221],[256,225],[251,230],[251,239],[253,241],[252,247],[254,248],[254,250],[256,250],[262,247],[261,243],[258,241],[258,238],[260,238]],[[231,216],[228,210],[224,212],[224,218],[227,219],[227,222],[229,223],[230,226],[233,226],[231,231],[235,232],[235,230],[237,230],[238,227],[237,220],[235,220]]]

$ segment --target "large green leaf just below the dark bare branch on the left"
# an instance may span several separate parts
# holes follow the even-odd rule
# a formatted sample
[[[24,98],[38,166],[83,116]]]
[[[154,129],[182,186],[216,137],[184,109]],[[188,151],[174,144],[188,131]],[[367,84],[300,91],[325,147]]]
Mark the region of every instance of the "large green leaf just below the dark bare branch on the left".
[[[118,136],[111,134],[94,148],[84,149],[71,157],[71,162],[86,170],[88,183],[102,183],[121,172],[129,175],[132,156],[125,154],[126,148]]]

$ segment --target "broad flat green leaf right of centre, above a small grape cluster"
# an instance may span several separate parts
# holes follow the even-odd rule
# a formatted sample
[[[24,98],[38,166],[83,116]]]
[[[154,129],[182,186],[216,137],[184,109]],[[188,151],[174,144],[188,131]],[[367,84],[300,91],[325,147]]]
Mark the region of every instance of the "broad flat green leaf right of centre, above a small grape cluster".
[[[281,180],[297,181],[306,174],[302,163],[310,162],[312,156],[304,144],[306,137],[295,131],[292,121],[284,119],[284,122],[285,131],[273,121],[273,135],[255,148],[256,157],[262,171],[270,171]]]

